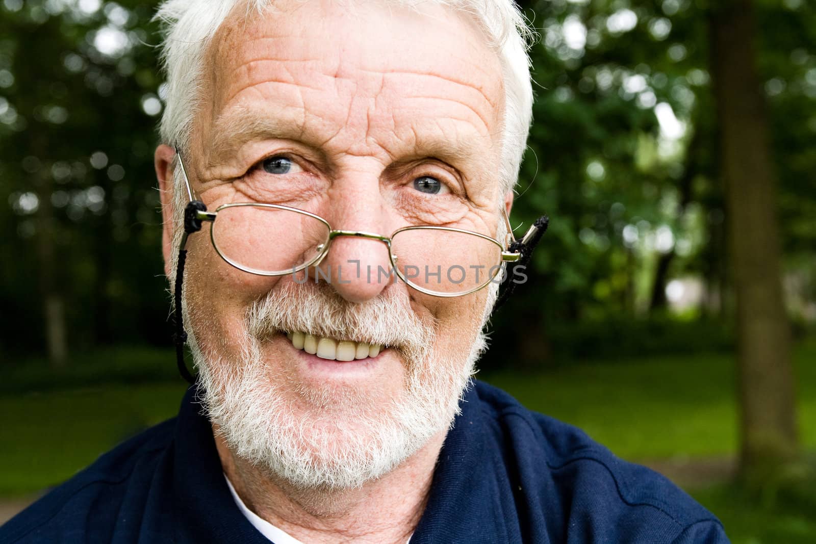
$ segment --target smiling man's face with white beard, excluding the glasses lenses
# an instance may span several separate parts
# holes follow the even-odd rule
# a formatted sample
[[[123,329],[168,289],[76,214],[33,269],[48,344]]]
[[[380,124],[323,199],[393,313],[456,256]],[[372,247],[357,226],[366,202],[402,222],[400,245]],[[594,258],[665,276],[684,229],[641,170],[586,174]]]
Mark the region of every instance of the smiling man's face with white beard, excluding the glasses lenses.
[[[185,162],[208,210],[257,201],[385,236],[415,224],[497,233],[501,69],[462,15],[376,2],[295,2],[248,19],[237,10],[215,35],[202,97]],[[335,238],[322,263],[342,268],[343,283],[299,285],[231,267],[208,238],[188,241],[186,313],[211,416],[233,453],[296,484],[343,486],[361,477],[305,480],[286,463],[330,470],[357,455],[379,463],[366,473],[375,477],[401,461],[393,451],[372,460],[384,442],[408,455],[444,432],[490,289],[442,299],[347,275],[352,261],[390,268],[386,245],[351,237]],[[373,335],[388,347],[324,360],[287,331]],[[247,436],[264,433],[275,436]],[[288,461],[264,459],[273,455]]]

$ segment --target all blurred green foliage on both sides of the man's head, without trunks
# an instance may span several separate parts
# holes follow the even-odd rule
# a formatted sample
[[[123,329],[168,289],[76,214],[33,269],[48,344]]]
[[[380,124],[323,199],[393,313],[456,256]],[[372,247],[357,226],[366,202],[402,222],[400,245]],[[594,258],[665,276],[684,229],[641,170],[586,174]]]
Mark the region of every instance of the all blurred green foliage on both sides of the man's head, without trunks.
[[[156,3],[0,4],[0,228],[10,233],[0,250],[13,256],[0,259],[0,304],[15,315],[0,329],[7,352],[44,344],[44,270],[60,285],[73,349],[169,341],[151,166],[163,96]],[[706,312],[727,318],[707,4],[524,5],[540,38],[530,50],[537,100],[512,221],[546,212],[552,226],[494,336],[520,343],[521,323],[551,338],[583,320],[618,330],[650,313],[653,291],[688,276],[712,294]],[[757,9],[787,270],[799,278],[791,307],[809,327],[816,19],[807,2]]]

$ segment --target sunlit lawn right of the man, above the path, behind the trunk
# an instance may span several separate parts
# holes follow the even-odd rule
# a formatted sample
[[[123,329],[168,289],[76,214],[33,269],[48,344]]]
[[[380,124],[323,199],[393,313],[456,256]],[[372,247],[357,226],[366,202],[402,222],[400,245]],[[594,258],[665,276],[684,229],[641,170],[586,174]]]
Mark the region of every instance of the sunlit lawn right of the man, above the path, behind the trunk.
[[[816,449],[816,343],[796,349],[800,433]],[[737,451],[734,360],[725,354],[584,362],[479,378],[527,408],[572,423],[628,459]]]

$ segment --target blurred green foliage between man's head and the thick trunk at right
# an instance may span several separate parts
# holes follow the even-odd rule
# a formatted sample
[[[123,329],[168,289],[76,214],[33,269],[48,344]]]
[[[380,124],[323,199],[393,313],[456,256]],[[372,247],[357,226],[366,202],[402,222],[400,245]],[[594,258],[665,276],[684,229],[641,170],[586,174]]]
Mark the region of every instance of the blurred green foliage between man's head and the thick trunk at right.
[[[514,215],[553,221],[524,287],[535,295],[511,311],[539,334],[663,312],[673,277],[725,259],[698,257],[719,206],[700,13],[674,0],[528,6],[538,98]],[[502,326],[521,360],[551,351]]]

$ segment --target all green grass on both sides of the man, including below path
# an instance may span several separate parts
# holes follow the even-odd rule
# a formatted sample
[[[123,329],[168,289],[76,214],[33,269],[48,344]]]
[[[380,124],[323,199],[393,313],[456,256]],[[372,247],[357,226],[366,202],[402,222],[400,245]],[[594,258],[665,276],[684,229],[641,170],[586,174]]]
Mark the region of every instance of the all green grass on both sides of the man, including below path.
[[[58,484],[119,441],[175,415],[186,383],[174,378],[171,351],[118,348],[77,359],[82,363],[56,373],[46,372],[42,360],[4,369],[0,497]],[[816,342],[797,347],[795,364],[801,437],[816,450]],[[706,458],[737,449],[733,366],[724,354],[663,356],[480,378],[530,409],[583,428],[623,458]],[[690,491],[721,518],[735,544],[816,542],[812,507],[762,506],[723,484]]]

